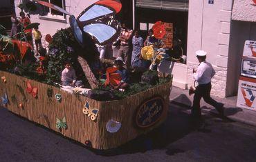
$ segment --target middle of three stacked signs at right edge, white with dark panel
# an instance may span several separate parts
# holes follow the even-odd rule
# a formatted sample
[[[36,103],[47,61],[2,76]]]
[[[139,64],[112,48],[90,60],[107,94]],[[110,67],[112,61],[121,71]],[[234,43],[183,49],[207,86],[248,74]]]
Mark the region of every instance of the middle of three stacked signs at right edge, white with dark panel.
[[[241,75],[256,79],[256,60],[255,59],[241,60]]]

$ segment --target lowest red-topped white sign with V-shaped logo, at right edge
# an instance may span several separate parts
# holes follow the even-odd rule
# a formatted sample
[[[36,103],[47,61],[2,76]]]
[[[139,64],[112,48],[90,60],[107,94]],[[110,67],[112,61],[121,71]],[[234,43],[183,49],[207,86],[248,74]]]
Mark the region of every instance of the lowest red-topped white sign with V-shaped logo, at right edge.
[[[256,81],[240,77],[237,93],[237,107],[256,111]]]

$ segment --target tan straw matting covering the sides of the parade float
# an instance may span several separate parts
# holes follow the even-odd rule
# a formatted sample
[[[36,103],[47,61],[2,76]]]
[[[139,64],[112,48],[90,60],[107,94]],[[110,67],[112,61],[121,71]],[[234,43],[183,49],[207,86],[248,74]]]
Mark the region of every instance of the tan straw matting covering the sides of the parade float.
[[[169,103],[169,94],[172,81],[140,92],[131,97],[119,101],[95,101],[84,96],[77,96],[55,88],[51,85],[39,83],[24,77],[0,71],[0,77],[6,77],[6,83],[0,81],[0,95],[7,92],[10,104],[8,110],[25,117],[30,121],[44,125],[51,130],[60,132],[68,138],[84,143],[86,140],[91,141],[91,147],[105,150],[116,148],[119,145],[127,143],[153,128],[156,128],[167,117],[167,106]],[[37,99],[26,91],[26,82],[30,81],[31,85],[38,88]],[[53,96],[48,97],[48,88],[53,89]],[[55,94],[62,95],[62,101],[55,99]],[[134,115],[138,106],[143,101],[155,96],[163,97],[165,101],[165,111],[163,117],[158,123],[147,129],[137,128],[135,125]],[[86,101],[91,108],[99,110],[98,117],[91,121],[86,114],[83,114],[82,108]],[[22,103],[24,108],[20,108]],[[56,117],[62,119],[66,117],[67,129],[57,130]],[[116,133],[107,132],[106,124],[109,120],[115,120],[122,123],[120,130]]]

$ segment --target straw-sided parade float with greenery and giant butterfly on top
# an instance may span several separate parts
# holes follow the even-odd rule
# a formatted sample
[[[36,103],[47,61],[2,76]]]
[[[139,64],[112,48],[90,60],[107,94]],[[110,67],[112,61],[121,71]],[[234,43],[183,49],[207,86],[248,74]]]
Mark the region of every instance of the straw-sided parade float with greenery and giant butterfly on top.
[[[56,10],[55,6],[44,1],[37,1],[37,3]],[[111,13],[100,13],[89,19],[88,16],[84,16],[99,8],[107,8],[106,10],[110,10]],[[92,99],[92,97],[80,95],[74,91],[68,92],[56,83],[58,80],[60,81],[60,79],[56,79],[56,73],[60,74],[60,70],[63,68],[58,68],[58,65],[62,65],[60,58],[66,58],[80,66],[89,88],[95,90],[95,93],[102,92],[100,80],[91,68],[91,62],[95,61],[94,57],[83,55],[84,49],[88,49],[91,42],[86,41],[86,37],[92,37],[91,40],[101,45],[118,39],[120,25],[116,19],[113,19],[113,14],[119,12],[120,8],[119,1],[102,0],[86,8],[77,19],[71,15],[71,28],[60,30],[53,36],[49,45],[49,53],[52,53],[49,54],[45,72],[44,68],[40,66],[41,71],[37,70],[34,73],[29,72],[28,68],[21,70],[22,68],[17,65],[10,68],[9,62],[7,65],[3,65],[4,61],[2,60],[1,66],[4,68],[2,67],[0,70],[1,105],[8,108],[10,112],[99,150],[117,148],[163,123],[167,117],[172,77],[165,76],[151,85],[136,83],[131,85],[127,92],[116,92],[121,95],[113,97],[113,99]],[[57,8],[57,10],[59,9]],[[66,11],[60,11],[69,14]],[[93,28],[101,26],[114,32],[111,36],[105,35],[107,37],[104,37],[105,39],[99,39],[102,37],[102,33],[98,33],[100,30],[95,31]],[[81,28],[83,30],[80,30]],[[71,34],[70,37],[67,37],[68,34],[64,34],[66,31],[71,31],[68,32]],[[76,42],[77,45],[68,43],[72,37],[73,42]],[[64,40],[65,38],[66,40]],[[60,43],[68,45],[64,45],[65,49],[63,50],[60,48]],[[17,49],[20,53],[24,52],[22,48],[30,50],[29,45],[21,43],[20,47]],[[148,51],[150,50],[145,52]],[[87,50],[86,54],[88,55],[90,52],[91,50]],[[6,58],[6,54],[3,55]],[[18,60],[19,63],[26,62],[20,57]],[[30,64],[28,63],[28,65]],[[163,77],[163,75],[161,76]],[[115,93],[112,94],[115,95]]]

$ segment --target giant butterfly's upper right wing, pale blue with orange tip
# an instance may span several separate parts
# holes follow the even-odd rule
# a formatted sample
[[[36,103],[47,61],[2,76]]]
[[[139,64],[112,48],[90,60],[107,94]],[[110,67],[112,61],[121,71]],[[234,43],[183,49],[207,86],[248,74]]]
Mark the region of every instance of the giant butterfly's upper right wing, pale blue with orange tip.
[[[120,12],[122,3],[115,0],[100,0],[86,8],[77,19],[81,22],[93,21],[100,17],[109,17]]]

